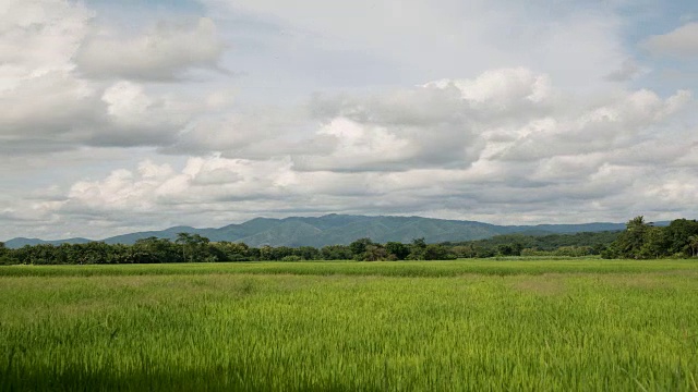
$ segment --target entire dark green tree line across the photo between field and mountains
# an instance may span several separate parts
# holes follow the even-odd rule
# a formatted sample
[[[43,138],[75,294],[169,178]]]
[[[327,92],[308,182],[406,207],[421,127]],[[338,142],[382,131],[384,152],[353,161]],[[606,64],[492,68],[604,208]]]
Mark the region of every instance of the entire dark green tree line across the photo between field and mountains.
[[[222,261],[300,260],[449,260],[498,256],[601,255],[603,258],[648,259],[698,256],[698,222],[678,219],[667,226],[654,226],[637,217],[621,232],[497,235],[488,240],[428,244],[424,238],[375,243],[359,238],[349,245],[261,246],[210,242],[198,234],[179,233],[174,241],[158,237],[133,245],[91,242],[86,244],[26,245],[10,249],[0,242],[0,265],[98,265]]]

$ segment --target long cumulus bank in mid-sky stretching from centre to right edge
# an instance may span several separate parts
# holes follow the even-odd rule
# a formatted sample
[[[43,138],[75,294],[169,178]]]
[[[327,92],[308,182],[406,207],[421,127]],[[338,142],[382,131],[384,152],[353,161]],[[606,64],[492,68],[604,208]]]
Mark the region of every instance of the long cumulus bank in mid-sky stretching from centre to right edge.
[[[563,94],[544,74],[492,70],[373,96],[317,97],[317,137],[330,149],[293,155],[304,171],[468,168],[490,159],[539,161],[629,148],[693,101],[679,90]],[[549,161],[550,162],[550,161]]]

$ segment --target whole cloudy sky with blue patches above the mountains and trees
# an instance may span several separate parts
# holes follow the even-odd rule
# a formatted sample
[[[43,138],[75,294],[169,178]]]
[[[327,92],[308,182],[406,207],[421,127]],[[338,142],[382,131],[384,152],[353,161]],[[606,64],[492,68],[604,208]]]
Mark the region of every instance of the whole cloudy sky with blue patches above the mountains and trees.
[[[698,218],[695,0],[0,0],[0,241]]]

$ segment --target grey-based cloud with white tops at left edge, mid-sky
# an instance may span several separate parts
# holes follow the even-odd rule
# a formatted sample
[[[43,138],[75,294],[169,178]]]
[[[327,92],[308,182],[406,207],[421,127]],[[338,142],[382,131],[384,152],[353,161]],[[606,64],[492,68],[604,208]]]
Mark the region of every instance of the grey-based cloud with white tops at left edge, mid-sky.
[[[148,95],[132,82],[99,87],[56,71],[27,78],[0,96],[0,150],[169,145],[197,110],[196,105]]]

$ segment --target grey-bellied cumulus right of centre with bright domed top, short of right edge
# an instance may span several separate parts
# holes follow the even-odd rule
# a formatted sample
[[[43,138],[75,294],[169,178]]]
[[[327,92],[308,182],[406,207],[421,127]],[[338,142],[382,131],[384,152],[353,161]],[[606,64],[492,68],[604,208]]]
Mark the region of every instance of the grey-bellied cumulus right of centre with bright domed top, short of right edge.
[[[297,170],[390,171],[468,167],[484,133],[510,119],[546,113],[554,93],[546,75],[501,69],[473,79],[442,79],[370,97],[317,97],[327,151],[296,155]]]

